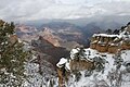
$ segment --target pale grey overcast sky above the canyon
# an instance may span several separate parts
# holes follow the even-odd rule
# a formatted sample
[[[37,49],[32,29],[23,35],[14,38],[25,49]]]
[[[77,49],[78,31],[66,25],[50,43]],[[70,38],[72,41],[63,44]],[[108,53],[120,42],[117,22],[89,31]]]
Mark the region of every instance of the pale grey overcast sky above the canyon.
[[[0,0],[0,18],[6,21],[98,15],[130,15],[130,0]]]

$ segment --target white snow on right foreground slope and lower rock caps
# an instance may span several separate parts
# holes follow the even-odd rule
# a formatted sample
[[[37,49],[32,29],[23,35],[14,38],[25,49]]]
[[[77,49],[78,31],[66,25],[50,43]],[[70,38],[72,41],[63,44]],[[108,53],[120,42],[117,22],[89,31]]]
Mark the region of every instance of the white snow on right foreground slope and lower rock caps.
[[[56,64],[57,67],[65,65],[70,71],[69,61],[76,59],[75,55],[80,51],[79,48],[70,51],[70,59],[62,58]],[[93,49],[83,49],[81,60],[94,61],[95,58],[105,60],[102,71],[79,71],[80,76],[72,73],[66,83],[67,87],[129,87],[130,86],[130,50],[123,50],[118,54],[101,53]]]

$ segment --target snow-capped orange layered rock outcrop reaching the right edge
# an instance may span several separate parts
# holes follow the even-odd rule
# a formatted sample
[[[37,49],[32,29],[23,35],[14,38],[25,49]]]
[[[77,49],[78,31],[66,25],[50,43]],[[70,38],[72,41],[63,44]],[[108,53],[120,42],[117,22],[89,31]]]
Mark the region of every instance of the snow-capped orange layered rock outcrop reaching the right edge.
[[[90,48],[100,52],[116,53],[121,50],[130,49],[130,25],[120,29],[117,35],[94,34],[91,39]]]

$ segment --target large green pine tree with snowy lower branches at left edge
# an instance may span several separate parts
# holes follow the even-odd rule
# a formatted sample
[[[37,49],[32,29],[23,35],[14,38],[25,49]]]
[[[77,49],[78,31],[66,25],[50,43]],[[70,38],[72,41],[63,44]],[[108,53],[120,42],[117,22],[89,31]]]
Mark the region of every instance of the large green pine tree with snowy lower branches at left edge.
[[[14,23],[0,20],[0,86],[21,87],[24,82],[25,62],[30,52],[23,48],[14,35]]]

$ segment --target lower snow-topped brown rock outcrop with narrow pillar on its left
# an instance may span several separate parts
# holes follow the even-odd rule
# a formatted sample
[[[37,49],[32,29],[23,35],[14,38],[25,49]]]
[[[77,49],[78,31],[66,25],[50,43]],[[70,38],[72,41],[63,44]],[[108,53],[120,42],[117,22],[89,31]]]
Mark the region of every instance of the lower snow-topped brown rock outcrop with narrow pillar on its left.
[[[60,87],[65,87],[65,83],[69,79],[72,73],[77,74],[78,71],[83,70],[92,71],[96,69],[98,63],[101,65],[101,57],[92,54],[94,50],[91,51],[91,49],[76,48],[70,51],[69,59],[62,58],[56,64]],[[101,59],[100,62],[96,61],[99,59]]]

